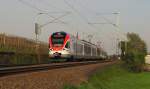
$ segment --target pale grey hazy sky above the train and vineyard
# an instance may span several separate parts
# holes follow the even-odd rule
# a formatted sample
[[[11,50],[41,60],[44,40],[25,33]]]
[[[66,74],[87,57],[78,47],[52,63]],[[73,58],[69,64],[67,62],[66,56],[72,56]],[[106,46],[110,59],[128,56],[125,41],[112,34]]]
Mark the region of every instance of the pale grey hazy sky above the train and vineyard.
[[[0,33],[35,39],[35,22],[43,25],[62,16],[42,27],[41,41],[48,42],[55,31],[73,35],[78,32],[85,40],[93,35],[92,42],[100,41],[111,54],[116,51],[117,38],[135,32],[145,40],[150,52],[149,10],[150,0],[0,0]],[[120,29],[112,25],[117,21]]]

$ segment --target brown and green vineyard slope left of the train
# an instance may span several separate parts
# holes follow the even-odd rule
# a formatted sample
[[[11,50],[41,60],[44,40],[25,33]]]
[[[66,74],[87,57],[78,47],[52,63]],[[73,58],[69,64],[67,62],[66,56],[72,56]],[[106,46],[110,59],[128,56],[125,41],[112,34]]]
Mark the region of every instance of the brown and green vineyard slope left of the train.
[[[32,39],[0,34],[0,64],[36,64],[47,61],[47,43],[37,44]]]

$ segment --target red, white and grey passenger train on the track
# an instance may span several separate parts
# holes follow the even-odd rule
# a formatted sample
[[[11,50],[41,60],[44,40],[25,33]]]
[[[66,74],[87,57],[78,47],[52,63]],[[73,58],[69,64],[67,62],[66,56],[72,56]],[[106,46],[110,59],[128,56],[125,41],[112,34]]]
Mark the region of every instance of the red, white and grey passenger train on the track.
[[[49,37],[49,57],[52,59],[105,59],[107,54],[98,45],[80,40],[77,36],[60,31]]]

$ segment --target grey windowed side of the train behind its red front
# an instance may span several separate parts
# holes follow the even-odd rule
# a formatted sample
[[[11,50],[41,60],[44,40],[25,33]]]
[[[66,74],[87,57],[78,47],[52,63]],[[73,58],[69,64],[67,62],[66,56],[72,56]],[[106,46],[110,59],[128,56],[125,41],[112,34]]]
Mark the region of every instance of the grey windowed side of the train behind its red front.
[[[71,37],[71,55],[76,59],[100,59],[101,50],[96,45]]]

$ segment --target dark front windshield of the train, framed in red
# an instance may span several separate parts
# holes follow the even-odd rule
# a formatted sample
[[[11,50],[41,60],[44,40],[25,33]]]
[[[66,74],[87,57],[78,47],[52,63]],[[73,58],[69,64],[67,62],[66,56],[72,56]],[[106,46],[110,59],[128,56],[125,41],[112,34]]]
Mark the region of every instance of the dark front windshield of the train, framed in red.
[[[52,35],[52,45],[54,47],[63,46],[66,34],[65,33],[54,33]]]

